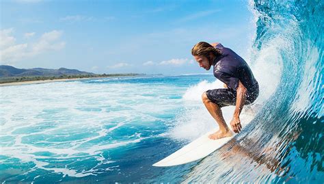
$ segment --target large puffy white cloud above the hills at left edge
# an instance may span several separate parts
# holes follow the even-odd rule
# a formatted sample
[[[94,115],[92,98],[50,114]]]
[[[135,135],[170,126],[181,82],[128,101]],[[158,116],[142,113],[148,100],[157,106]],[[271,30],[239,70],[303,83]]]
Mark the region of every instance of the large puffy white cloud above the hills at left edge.
[[[33,57],[45,51],[57,51],[65,47],[65,42],[59,41],[62,31],[49,31],[36,41],[31,43],[16,44],[16,38],[12,36],[13,29],[1,30],[1,62],[10,63]],[[30,33],[29,33],[30,35]]]

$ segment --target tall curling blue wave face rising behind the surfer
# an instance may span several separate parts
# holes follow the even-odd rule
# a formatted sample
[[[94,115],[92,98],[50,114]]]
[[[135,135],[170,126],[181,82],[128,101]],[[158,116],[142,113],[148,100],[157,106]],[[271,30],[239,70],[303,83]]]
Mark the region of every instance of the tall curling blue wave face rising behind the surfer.
[[[271,96],[254,120],[185,182],[323,183],[323,1],[251,5],[258,18],[252,68],[279,83],[271,92],[271,78],[262,81],[262,95]]]

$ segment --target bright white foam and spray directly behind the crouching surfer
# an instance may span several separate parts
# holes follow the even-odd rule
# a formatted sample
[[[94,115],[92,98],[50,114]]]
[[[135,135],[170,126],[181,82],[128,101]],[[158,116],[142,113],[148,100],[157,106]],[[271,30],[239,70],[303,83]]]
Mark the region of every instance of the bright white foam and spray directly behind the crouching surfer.
[[[255,23],[256,20],[253,20],[253,22]],[[252,38],[255,38],[255,35]],[[260,51],[248,49],[251,57],[249,57],[247,63],[259,83],[260,94],[254,104],[249,105],[252,108],[250,111],[253,111],[254,115],[247,116],[250,114],[247,111],[241,113],[240,119],[242,123],[252,120],[251,117],[254,117],[262,109],[262,105],[269,100],[278,88],[283,67],[280,49],[289,47],[288,44],[284,38],[277,37],[271,39],[268,43],[263,43]],[[245,53],[245,55],[247,54]],[[204,107],[201,99],[204,91],[215,88],[224,88],[223,83],[218,80],[211,83],[202,81],[186,90],[183,95],[185,111],[178,114],[174,128],[169,132],[170,137],[180,141],[192,141],[207,131],[218,127],[206,107]],[[234,106],[222,108],[224,119],[228,125],[232,119],[234,108]]]

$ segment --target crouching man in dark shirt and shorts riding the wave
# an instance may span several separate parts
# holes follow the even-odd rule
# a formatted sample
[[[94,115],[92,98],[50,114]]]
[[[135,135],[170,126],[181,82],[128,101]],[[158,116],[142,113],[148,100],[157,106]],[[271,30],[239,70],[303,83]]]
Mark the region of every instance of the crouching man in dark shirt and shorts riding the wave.
[[[239,115],[243,105],[253,103],[259,94],[258,82],[251,69],[242,57],[219,43],[199,42],[192,48],[191,54],[205,70],[209,70],[213,65],[214,76],[222,81],[225,87],[207,90],[202,94],[204,105],[219,124],[219,131],[208,137],[217,140],[232,136],[221,114],[221,107],[228,105],[235,106],[230,126],[235,133],[239,133],[242,129]]]

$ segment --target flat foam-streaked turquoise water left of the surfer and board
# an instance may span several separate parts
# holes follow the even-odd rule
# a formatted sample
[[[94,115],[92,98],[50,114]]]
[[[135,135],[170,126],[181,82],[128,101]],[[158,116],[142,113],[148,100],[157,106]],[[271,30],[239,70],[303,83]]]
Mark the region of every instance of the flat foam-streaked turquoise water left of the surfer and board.
[[[214,81],[212,75],[144,76],[2,87],[0,179],[154,179],[166,170],[153,163],[208,129],[175,132],[185,111],[204,110],[200,95],[191,98],[197,84],[208,88]]]

